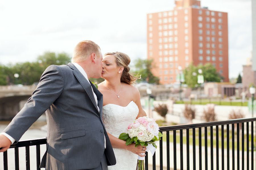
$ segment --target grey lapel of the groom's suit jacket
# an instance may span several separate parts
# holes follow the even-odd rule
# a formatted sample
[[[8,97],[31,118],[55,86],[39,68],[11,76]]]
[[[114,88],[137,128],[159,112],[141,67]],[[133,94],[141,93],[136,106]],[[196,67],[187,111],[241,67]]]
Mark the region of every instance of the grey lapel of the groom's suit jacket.
[[[90,85],[90,83],[86,80],[86,78],[82,75],[82,73],[77,69],[77,67],[75,67],[72,63],[68,63],[67,65],[69,65],[69,67],[71,67],[71,69],[73,69],[73,74],[75,75],[75,77],[77,78],[79,83],[82,85],[85,92],[90,97],[94,107],[98,111],[98,107],[96,105],[96,101],[94,99],[94,95],[93,95],[93,92],[92,92],[92,86]]]

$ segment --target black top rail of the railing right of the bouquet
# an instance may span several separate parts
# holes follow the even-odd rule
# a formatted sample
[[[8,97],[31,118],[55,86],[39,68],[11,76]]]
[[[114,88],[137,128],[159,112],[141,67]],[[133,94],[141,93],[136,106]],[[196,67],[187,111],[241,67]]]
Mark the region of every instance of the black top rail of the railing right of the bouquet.
[[[202,127],[210,127],[210,126],[217,126],[217,125],[219,126],[219,125],[236,124],[236,123],[253,122],[253,121],[256,121],[256,118],[249,118],[249,119],[243,118],[243,119],[233,119],[233,120],[225,120],[225,121],[218,121],[218,122],[205,122],[205,123],[196,123],[196,124],[187,124],[187,125],[165,126],[165,127],[160,127],[160,131],[202,128]]]

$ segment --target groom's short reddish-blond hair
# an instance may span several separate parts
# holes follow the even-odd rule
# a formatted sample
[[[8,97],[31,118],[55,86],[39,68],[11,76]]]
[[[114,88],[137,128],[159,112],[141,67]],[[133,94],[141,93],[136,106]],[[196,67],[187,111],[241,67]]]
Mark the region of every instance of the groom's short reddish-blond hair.
[[[96,56],[100,57],[100,47],[93,41],[84,40],[77,44],[74,49],[72,62],[82,62],[92,54],[95,53]]]

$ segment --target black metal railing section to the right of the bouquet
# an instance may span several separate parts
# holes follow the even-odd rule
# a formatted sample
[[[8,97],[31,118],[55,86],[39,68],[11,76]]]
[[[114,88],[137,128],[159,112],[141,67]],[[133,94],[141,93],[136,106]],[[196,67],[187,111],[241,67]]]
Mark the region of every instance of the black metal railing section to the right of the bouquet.
[[[159,150],[156,150],[154,156],[152,156],[152,167],[155,169],[163,169],[163,160],[167,163],[166,168],[176,169],[247,169],[251,170],[254,166],[254,150],[255,141],[253,135],[253,129],[256,128],[254,123],[256,118],[249,119],[235,119],[219,122],[207,122],[199,124],[179,125],[160,127],[160,131],[163,133],[162,140],[160,140]],[[231,126],[231,131],[230,131]],[[236,126],[236,130],[235,130]],[[246,126],[246,129],[245,129]],[[219,129],[220,127],[220,129]],[[202,136],[202,128],[204,134]],[[185,134],[183,134],[185,130]],[[210,134],[209,134],[210,130]],[[246,130],[246,141],[244,131]],[[256,129],[255,129],[256,130]],[[177,131],[179,131],[179,138],[177,137]],[[192,135],[191,135],[192,131]],[[171,133],[172,132],[172,133]],[[219,133],[221,135],[219,136]],[[231,135],[230,135],[231,133]],[[241,136],[240,136],[241,135]],[[208,139],[210,137],[210,139]],[[220,137],[220,139],[219,139]],[[231,138],[230,138],[231,137]],[[236,138],[235,138],[236,137]],[[192,143],[190,140],[192,138]],[[177,149],[177,139],[179,139],[179,147]],[[236,140],[235,140],[236,139]],[[202,142],[204,140],[204,143]],[[221,143],[219,141],[221,140]],[[230,157],[230,140],[231,140],[231,157]],[[185,142],[186,141],[186,142]],[[163,143],[166,142],[166,148],[163,148]],[[209,143],[208,143],[209,142]],[[172,155],[170,155],[170,145],[173,143]],[[210,150],[208,145],[210,144]],[[183,157],[183,145],[186,145],[186,158]],[[203,146],[204,145],[204,146]],[[219,148],[220,146],[220,148]],[[245,148],[246,146],[246,148]],[[235,147],[237,152],[235,152]],[[191,150],[192,148],[192,150]],[[204,156],[202,154],[204,148]],[[166,150],[166,155],[163,154],[163,150]],[[191,152],[190,152],[191,150]],[[219,150],[221,150],[221,156],[219,156]],[[246,159],[244,152],[246,151]],[[209,154],[210,152],[210,154]],[[225,155],[226,152],[226,155]],[[241,152],[241,156],[240,156]],[[249,153],[251,152],[251,156]],[[179,153],[179,166],[177,165],[177,153]],[[192,153],[192,154],[191,154]],[[190,154],[192,158],[190,157]],[[214,156],[216,155],[216,156]],[[148,160],[149,154],[146,154],[145,169],[149,169]],[[159,165],[156,166],[156,158],[159,158]],[[210,160],[208,160],[210,157]],[[186,160],[185,160],[186,159]],[[221,159],[221,162],[220,162]],[[232,163],[230,163],[232,159]],[[241,161],[240,161],[241,160]],[[245,161],[246,160],[246,167]],[[251,161],[250,161],[251,160]],[[186,162],[186,164],[185,164]],[[203,166],[204,163],[204,166]],[[241,165],[240,165],[241,163]]]

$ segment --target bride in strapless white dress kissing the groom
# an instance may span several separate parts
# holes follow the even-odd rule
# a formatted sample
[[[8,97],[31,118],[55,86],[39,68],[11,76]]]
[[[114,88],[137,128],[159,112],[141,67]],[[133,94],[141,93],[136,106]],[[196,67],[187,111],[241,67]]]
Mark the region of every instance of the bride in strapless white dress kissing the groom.
[[[121,133],[127,133],[127,127],[136,118],[146,116],[141,106],[139,90],[132,86],[138,79],[129,73],[131,59],[122,52],[107,53],[103,57],[102,78],[98,85],[103,94],[102,120],[112,144],[116,165],[110,170],[134,170],[137,158],[145,156],[146,147],[135,143],[126,146],[125,141],[118,139]]]

